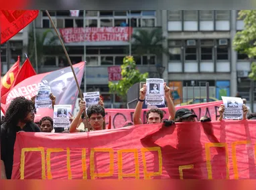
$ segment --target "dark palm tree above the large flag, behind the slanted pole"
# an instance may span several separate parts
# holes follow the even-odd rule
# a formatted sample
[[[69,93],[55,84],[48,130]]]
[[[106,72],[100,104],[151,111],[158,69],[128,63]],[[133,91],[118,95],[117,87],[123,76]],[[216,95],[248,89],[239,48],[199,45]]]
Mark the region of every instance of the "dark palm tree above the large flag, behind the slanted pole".
[[[50,36],[49,38],[47,38]],[[38,54],[38,66],[44,63],[44,55],[59,55],[63,54],[64,51],[58,45],[58,36],[55,35],[54,31],[51,29],[47,29],[40,35],[36,33],[36,48]],[[35,55],[35,44],[34,44],[34,33],[33,31],[29,32],[29,39],[27,45],[27,53],[31,63],[36,63],[36,55]]]

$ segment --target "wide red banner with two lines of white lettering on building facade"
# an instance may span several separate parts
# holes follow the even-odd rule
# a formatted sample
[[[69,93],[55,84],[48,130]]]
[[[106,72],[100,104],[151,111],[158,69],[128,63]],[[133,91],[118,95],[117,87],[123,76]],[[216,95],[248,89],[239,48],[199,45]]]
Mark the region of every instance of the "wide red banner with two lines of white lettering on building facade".
[[[76,27],[60,29],[65,43],[82,41],[129,41],[132,27]]]

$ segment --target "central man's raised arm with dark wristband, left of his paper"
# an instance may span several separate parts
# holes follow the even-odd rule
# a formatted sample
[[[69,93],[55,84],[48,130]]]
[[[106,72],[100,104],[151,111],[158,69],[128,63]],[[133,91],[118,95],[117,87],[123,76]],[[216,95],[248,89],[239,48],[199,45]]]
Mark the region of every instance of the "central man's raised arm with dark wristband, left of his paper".
[[[140,89],[139,91],[139,101],[136,105],[134,114],[133,114],[133,123],[134,125],[140,125],[142,124],[141,121],[141,110],[142,110],[142,106],[143,106],[143,102],[145,101],[145,94],[147,91],[147,85],[143,85],[143,88]]]

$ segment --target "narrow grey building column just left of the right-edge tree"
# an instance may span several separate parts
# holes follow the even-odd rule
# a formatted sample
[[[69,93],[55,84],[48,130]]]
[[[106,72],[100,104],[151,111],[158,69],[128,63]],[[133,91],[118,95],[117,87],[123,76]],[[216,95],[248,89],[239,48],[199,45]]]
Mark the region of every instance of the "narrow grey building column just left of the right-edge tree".
[[[237,94],[237,51],[233,49],[233,39],[237,33],[237,11],[231,11],[231,96]]]

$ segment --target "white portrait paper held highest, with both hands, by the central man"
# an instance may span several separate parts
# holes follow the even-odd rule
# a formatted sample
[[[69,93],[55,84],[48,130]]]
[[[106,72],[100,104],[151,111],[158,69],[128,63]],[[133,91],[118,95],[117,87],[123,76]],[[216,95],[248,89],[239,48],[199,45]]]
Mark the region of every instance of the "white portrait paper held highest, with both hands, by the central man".
[[[146,105],[164,105],[164,79],[147,79]]]

